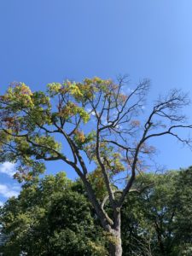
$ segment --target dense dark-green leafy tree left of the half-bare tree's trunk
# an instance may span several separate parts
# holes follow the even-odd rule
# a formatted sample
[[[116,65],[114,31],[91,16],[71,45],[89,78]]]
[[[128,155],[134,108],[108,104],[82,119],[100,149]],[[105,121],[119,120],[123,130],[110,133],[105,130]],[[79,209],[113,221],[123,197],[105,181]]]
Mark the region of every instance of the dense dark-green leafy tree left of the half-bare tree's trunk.
[[[64,172],[23,186],[1,210],[5,255],[105,255],[102,229]]]

